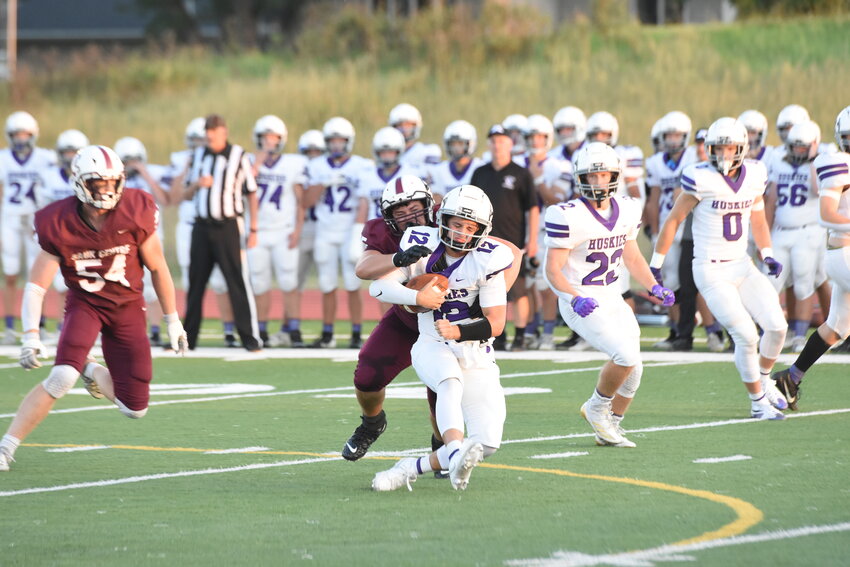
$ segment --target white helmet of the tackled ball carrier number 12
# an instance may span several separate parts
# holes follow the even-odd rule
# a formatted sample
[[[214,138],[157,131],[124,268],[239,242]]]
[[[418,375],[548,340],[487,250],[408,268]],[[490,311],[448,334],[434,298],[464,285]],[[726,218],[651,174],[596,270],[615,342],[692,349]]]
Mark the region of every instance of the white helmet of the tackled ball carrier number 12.
[[[448,226],[451,217],[471,220],[478,224],[478,230],[472,235],[452,230]],[[475,250],[493,228],[493,204],[487,194],[475,185],[461,185],[443,197],[437,211],[437,226],[440,241],[449,248]]]

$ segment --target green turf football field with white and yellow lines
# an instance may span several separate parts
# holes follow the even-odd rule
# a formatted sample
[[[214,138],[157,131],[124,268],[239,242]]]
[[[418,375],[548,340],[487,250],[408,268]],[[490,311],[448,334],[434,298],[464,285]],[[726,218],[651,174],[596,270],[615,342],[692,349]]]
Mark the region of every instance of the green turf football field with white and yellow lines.
[[[47,370],[4,348],[5,430]],[[469,488],[426,475],[374,493],[377,471],[429,444],[411,370],[389,389],[386,433],[349,463],[353,351],[157,354],[147,417],[75,390],[0,473],[0,565],[848,563],[847,355],[809,373],[790,419],[764,423],[747,419],[731,355],[647,349],[623,424],[638,447],[612,449],[578,413],[598,355],[507,354],[504,444]],[[297,355],[315,358],[283,358]]]

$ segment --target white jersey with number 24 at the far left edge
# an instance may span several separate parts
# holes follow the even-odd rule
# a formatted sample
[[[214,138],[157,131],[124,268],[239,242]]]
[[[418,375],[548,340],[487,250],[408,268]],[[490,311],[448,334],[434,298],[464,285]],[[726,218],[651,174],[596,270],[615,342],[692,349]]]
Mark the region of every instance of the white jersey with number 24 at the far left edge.
[[[9,148],[0,150],[0,183],[3,184],[3,216],[30,215],[36,211],[41,173],[56,165],[56,153],[34,148],[23,161]]]

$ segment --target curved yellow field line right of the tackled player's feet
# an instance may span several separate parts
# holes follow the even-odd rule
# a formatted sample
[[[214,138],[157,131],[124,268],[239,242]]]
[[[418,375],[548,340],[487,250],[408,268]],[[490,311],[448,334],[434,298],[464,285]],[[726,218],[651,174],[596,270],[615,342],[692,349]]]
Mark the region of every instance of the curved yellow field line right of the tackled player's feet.
[[[691,488],[685,488],[683,486],[676,486],[673,484],[666,484],[663,482],[655,482],[650,480],[638,480],[636,478],[620,478],[616,476],[605,476],[598,474],[583,474],[559,469],[538,469],[532,467],[517,467],[513,465],[497,465],[492,463],[481,463],[478,466],[490,469],[554,474],[558,476],[569,476],[573,478],[584,478],[589,480],[604,480],[605,482],[618,482],[620,484],[631,484],[634,486],[642,486],[644,488],[666,490],[668,492],[676,492],[679,494],[684,494],[686,496],[694,496],[696,498],[702,498],[703,500],[709,500],[711,502],[723,504],[731,508],[737,516],[737,519],[735,519],[735,521],[730,522],[725,526],[722,526],[718,530],[705,532],[704,534],[699,535],[697,537],[683,539],[682,541],[677,541],[668,545],[689,545],[692,543],[712,541],[715,539],[739,535],[761,522],[762,519],[764,519],[764,514],[762,513],[762,511],[750,504],[749,502],[745,502],[744,500],[741,500],[739,498],[733,498],[731,496],[715,494],[707,490],[694,490]]]

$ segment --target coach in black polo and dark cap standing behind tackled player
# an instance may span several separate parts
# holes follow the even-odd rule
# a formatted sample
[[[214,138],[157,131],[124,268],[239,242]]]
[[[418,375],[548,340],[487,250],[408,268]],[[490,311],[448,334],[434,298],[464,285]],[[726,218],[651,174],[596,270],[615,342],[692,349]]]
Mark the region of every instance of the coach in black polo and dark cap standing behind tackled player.
[[[537,229],[540,209],[534,179],[528,170],[514,163],[511,155],[513,141],[500,124],[487,133],[493,159],[472,174],[471,183],[480,187],[493,203],[493,230],[490,234],[504,238],[525,252],[526,258],[537,255]],[[527,269],[523,262],[519,277],[508,292],[514,303],[514,348],[522,349],[525,326],[529,319]],[[504,349],[505,334],[497,337],[495,347]]]

